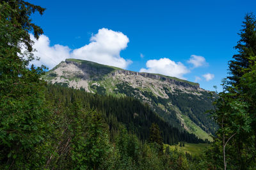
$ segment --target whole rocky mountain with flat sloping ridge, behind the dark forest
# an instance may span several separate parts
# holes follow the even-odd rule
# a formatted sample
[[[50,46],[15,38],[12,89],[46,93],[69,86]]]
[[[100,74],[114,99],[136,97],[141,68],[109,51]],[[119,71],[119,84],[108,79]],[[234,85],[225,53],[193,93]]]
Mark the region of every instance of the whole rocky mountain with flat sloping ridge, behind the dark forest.
[[[150,105],[172,127],[212,140],[216,128],[205,111],[212,109],[209,91],[198,83],[155,73],[140,73],[92,61],[66,59],[42,77],[51,84],[99,95],[134,97]]]

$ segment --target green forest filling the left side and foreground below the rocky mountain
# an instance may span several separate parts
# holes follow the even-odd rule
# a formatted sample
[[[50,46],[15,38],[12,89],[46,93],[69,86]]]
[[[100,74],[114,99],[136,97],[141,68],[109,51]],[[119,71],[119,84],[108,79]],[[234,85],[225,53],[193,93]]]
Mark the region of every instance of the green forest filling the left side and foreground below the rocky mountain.
[[[35,59],[28,31],[33,31],[35,38],[43,33],[29,16],[35,12],[42,15],[44,10],[25,1],[0,1],[0,169],[198,166],[179,151],[163,153],[160,129],[166,141],[175,143],[186,137],[165,127],[164,121],[137,100],[119,101],[75,89],[46,87],[40,79],[45,67],[28,68]],[[20,43],[24,44],[22,50]],[[149,128],[150,124],[154,128]],[[193,135],[189,137],[193,139]]]

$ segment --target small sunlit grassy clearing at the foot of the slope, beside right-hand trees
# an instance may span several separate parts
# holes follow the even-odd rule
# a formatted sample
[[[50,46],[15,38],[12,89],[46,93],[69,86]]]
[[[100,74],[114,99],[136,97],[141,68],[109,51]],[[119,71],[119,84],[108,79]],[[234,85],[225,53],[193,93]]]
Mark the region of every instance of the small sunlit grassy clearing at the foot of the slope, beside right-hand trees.
[[[177,150],[184,151],[184,153],[188,152],[191,155],[199,155],[207,148],[207,146],[209,146],[209,144],[207,144],[207,143],[198,143],[198,144],[184,143],[184,147],[183,146],[180,147],[179,144],[176,144],[176,145],[164,144],[164,151],[167,146],[170,147],[170,150],[175,150],[175,148],[177,148]]]

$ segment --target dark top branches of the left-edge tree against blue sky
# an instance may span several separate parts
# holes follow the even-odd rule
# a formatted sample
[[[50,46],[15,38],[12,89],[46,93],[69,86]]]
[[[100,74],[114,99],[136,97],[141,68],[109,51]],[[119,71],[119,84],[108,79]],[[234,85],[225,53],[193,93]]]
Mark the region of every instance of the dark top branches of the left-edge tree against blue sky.
[[[20,52],[19,43],[24,43],[24,47],[31,52],[33,42],[30,39],[29,31],[33,30],[35,38],[39,38],[39,35],[44,32],[31,22],[30,15],[35,12],[42,15],[44,10],[40,6],[24,1],[1,1],[1,45]],[[14,55],[16,56],[16,54]]]

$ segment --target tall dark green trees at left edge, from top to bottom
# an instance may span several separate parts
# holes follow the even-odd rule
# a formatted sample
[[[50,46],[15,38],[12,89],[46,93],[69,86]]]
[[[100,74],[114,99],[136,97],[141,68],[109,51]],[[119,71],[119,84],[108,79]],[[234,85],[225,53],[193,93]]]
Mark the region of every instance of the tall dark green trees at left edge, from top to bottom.
[[[33,42],[42,29],[31,22],[31,13],[44,8],[24,1],[0,1],[0,169],[39,167],[38,152],[47,137],[43,68],[31,66]],[[23,49],[22,49],[23,47]]]

